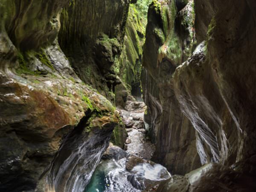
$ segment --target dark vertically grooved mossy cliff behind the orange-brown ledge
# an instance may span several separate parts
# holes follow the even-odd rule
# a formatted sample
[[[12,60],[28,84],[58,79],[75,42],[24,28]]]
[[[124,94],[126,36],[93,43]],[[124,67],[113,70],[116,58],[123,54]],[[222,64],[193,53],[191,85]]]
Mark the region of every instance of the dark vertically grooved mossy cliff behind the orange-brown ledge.
[[[72,0],[61,12],[61,49],[83,80],[114,102],[129,0]]]

